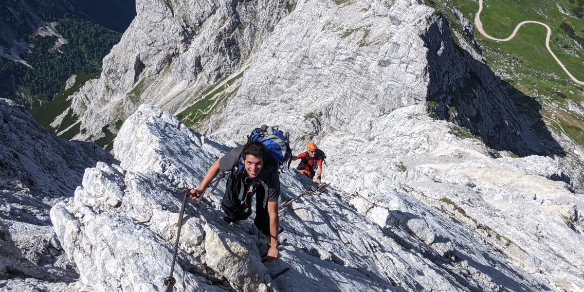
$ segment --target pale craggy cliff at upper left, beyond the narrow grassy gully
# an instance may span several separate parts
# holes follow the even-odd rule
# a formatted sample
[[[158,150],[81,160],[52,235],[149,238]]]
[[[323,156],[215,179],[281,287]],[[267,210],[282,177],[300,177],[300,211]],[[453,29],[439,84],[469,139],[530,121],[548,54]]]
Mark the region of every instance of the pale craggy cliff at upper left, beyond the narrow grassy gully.
[[[73,96],[86,129],[78,138],[95,140],[106,124],[116,132],[114,122],[141,103],[174,112],[191,105],[208,86],[248,66],[257,44],[287,15],[287,5],[136,1],[137,16],[103,60],[102,76]]]

